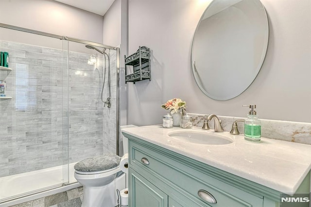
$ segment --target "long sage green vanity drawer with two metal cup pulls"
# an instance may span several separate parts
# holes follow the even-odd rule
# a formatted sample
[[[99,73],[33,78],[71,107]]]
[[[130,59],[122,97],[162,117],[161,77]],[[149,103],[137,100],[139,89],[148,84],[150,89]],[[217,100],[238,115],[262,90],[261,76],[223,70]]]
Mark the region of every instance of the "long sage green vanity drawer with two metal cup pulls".
[[[207,173],[191,168],[187,163],[180,163],[132,140],[129,162],[130,165],[145,171],[142,173],[146,179],[148,174],[156,174],[163,181],[175,185],[176,189],[188,192],[192,199],[202,203],[203,206],[262,207],[263,205],[263,199],[260,197],[235,188]],[[201,194],[201,197],[198,194]],[[216,203],[212,203],[212,198]]]

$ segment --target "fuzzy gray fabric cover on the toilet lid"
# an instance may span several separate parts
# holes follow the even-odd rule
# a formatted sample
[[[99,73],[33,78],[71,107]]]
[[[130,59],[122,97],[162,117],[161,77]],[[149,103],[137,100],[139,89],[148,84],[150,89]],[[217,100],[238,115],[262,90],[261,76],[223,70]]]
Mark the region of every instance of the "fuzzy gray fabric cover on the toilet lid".
[[[80,172],[105,171],[119,166],[121,157],[112,153],[84,159],[74,165]]]

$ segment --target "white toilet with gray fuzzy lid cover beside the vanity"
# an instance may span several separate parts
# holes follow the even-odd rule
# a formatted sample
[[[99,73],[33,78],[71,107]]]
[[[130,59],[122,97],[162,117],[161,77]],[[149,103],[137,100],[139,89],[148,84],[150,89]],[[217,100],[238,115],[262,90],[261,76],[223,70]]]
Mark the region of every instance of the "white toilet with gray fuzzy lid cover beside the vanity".
[[[134,125],[121,126],[134,127]],[[123,139],[123,154],[128,151],[127,138]],[[120,169],[121,157],[105,154],[92,157],[75,164],[74,177],[83,185],[83,202],[81,207],[115,207],[117,189],[126,188],[126,176]]]

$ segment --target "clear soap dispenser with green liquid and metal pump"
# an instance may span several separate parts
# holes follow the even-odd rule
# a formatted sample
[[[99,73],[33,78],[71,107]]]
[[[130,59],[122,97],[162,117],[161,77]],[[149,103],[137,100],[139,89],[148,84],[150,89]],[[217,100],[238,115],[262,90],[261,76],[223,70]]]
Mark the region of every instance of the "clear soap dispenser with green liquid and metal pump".
[[[244,121],[244,139],[259,142],[261,138],[261,123],[258,119],[256,111],[254,110],[256,105],[242,106],[248,106],[251,109],[248,112],[247,119]]]

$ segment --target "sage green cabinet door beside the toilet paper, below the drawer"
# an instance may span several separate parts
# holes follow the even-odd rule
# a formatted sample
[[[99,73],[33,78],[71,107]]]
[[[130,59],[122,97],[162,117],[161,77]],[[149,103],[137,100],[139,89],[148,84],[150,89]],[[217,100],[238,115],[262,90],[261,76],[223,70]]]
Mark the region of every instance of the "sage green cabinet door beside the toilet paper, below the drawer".
[[[129,207],[167,207],[168,195],[133,169],[129,169]]]

